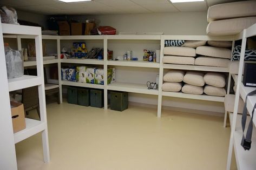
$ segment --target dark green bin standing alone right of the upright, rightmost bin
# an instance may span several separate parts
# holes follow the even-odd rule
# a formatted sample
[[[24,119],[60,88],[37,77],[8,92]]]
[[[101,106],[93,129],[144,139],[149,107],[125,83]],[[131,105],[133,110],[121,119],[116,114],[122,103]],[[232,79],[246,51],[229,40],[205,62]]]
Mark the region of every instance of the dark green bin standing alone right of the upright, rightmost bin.
[[[110,109],[124,111],[128,108],[127,92],[110,92]]]

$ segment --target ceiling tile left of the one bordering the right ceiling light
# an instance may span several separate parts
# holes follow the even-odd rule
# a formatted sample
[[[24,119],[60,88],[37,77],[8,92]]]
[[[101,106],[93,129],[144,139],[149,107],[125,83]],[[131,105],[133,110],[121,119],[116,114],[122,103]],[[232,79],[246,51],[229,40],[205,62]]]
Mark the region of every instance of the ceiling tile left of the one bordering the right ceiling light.
[[[147,4],[141,5],[152,12],[179,12],[172,4]]]

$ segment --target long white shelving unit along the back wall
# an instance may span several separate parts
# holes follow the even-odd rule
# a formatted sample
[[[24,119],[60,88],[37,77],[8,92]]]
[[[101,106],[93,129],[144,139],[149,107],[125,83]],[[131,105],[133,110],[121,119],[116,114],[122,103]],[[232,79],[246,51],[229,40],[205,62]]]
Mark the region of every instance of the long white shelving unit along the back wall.
[[[57,36],[54,36],[55,38]],[[49,36],[48,38],[53,38]],[[181,69],[181,70],[194,70],[194,71],[212,71],[212,72],[224,72],[228,73],[227,67],[211,67],[211,66],[196,66],[196,65],[177,65],[177,64],[163,64],[162,57],[163,57],[163,44],[165,39],[185,39],[185,40],[234,40],[234,36],[222,36],[222,37],[211,37],[211,36],[165,36],[165,35],[105,35],[105,36],[58,36],[57,38],[59,41],[67,41],[68,43],[71,42],[90,42],[92,41],[102,41],[104,47],[104,56],[107,56],[107,49],[113,50],[114,53],[117,49],[113,48],[111,43],[119,45],[121,43],[133,44],[131,42],[135,42],[137,44],[152,42],[152,44],[161,45],[160,49],[160,63],[153,63],[153,62],[144,62],[140,58],[139,60],[131,60],[131,61],[124,61],[124,60],[107,60],[105,57],[103,60],[97,59],[58,59],[59,66],[59,79],[61,79],[61,64],[68,63],[68,64],[85,64],[85,65],[99,65],[103,66],[104,68],[104,85],[96,85],[96,84],[87,84],[87,83],[76,83],[71,81],[59,81],[60,87],[61,85],[70,85],[70,86],[78,86],[78,87],[91,87],[96,89],[104,89],[104,109],[108,108],[108,101],[107,101],[107,93],[108,90],[117,90],[117,91],[126,91],[132,93],[142,93],[142,94],[153,94],[157,95],[157,117],[161,117],[161,106],[162,106],[162,96],[167,97],[176,97],[176,98],[187,98],[187,99],[197,99],[197,100],[208,100],[208,101],[216,101],[216,102],[224,102],[224,97],[214,97],[214,96],[207,96],[207,95],[194,95],[194,94],[184,94],[181,92],[162,92],[162,77],[164,69]],[[139,42],[139,43],[138,43]],[[149,43],[150,44],[150,43]],[[99,44],[98,44],[99,45]],[[153,45],[153,46],[154,46]],[[125,45],[124,45],[125,46]],[[147,45],[145,45],[146,47]],[[128,49],[129,47],[126,47]],[[138,48],[136,46],[136,48]],[[135,50],[138,50],[136,49]],[[149,47],[150,48],[150,47]],[[61,43],[59,42],[58,45],[58,55],[60,55]],[[120,49],[118,49],[120,51]],[[133,50],[133,49],[131,49]],[[143,49],[141,49],[143,50]],[[122,50],[124,52],[125,50]],[[60,56],[58,56],[60,58]],[[146,84],[137,83],[137,82],[122,82],[117,81],[112,84],[107,85],[107,68],[109,67],[118,67],[120,68],[131,68],[132,70],[136,70],[136,68],[141,67],[145,70],[156,69],[157,74],[159,74],[159,89],[160,90],[148,90]],[[118,72],[116,73],[118,74]],[[150,78],[150,77],[149,77]],[[228,81],[228,84],[230,81]],[[229,91],[229,89],[228,89]],[[61,91],[62,94],[62,91]],[[61,97],[62,99],[62,97]]]

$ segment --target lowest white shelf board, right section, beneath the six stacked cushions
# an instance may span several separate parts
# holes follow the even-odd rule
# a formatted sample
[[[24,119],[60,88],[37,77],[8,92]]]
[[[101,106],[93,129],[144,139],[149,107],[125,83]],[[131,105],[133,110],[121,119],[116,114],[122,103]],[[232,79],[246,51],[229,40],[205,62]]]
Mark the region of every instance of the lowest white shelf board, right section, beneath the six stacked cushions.
[[[208,96],[206,94],[198,95],[198,94],[186,94],[186,93],[182,93],[182,92],[165,92],[165,91],[163,91],[162,96],[224,102],[224,97]]]

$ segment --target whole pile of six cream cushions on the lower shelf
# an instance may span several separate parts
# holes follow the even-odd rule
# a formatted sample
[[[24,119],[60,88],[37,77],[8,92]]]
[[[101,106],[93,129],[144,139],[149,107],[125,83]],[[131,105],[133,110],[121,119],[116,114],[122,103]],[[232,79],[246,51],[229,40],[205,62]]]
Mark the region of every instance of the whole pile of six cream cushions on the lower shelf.
[[[225,96],[226,78],[222,73],[202,73],[195,71],[170,70],[163,76],[162,91],[188,94],[207,94],[209,96]],[[183,82],[182,82],[183,81]],[[182,84],[184,85],[182,86]]]

